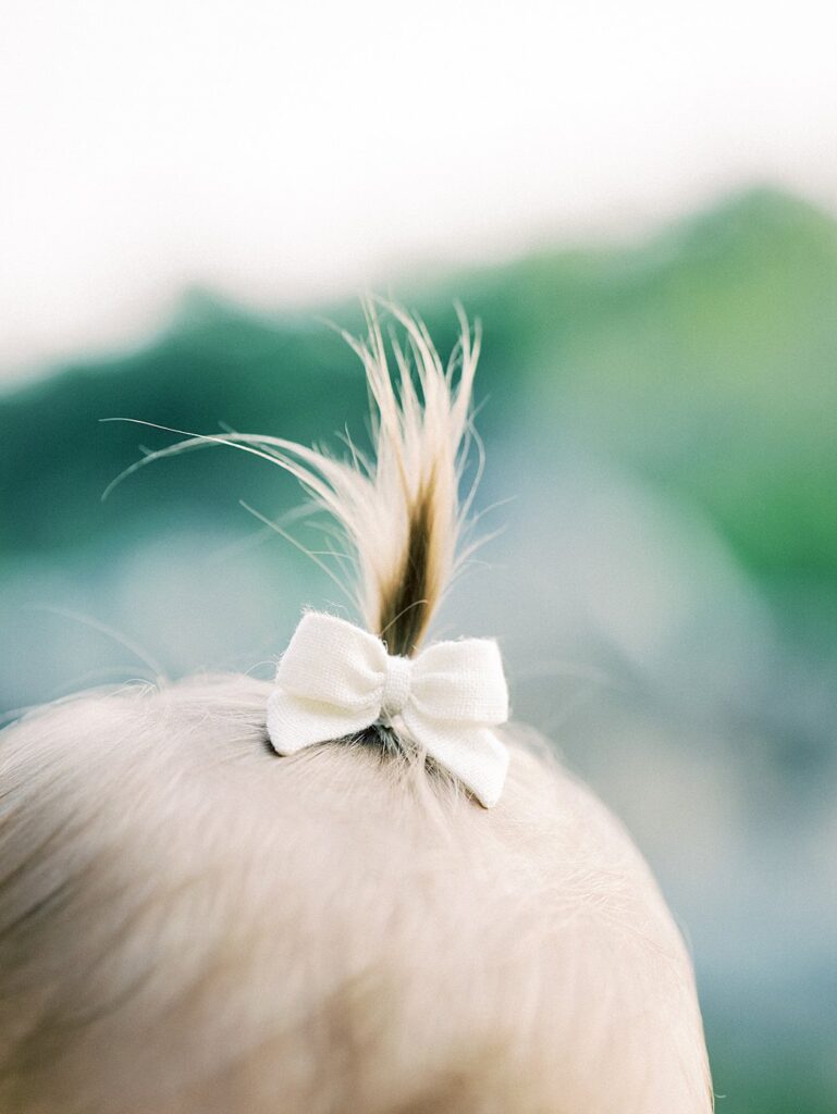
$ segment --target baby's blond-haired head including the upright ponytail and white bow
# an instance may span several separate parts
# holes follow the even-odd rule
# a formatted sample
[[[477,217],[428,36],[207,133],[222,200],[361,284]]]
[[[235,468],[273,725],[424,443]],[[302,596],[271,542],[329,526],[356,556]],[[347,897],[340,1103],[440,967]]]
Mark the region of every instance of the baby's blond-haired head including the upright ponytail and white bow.
[[[427,641],[466,547],[478,335],[347,338],[367,457],[291,471],[356,557],[272,682],[0,734],[0,1114],[705,1114],[681,936],[620,824],[509,725],[493,641]],[[513,586],[510,586],[513,588]],[[464,632],[467,634],[468,632]],[[282,647],[278,647],[280,651]]]

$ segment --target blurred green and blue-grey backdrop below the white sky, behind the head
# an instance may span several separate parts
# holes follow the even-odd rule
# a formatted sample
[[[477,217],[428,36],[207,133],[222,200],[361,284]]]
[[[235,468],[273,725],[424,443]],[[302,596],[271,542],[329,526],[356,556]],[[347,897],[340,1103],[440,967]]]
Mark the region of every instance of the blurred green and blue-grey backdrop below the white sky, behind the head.
[[[837,224],[771,189],[632,246],[391,293],[447,353],[461,300],[486,544],[439,632],[497,634],[514,711],[624,818],[690,940],[721,1114],[837,1111]],[[318,314],[187,292],[148,343],[0,397],[0,703],[211,668],[270,674],[331,582],[241,507],[224,449],[140,471],[136,418],[362,441]],[[330,443],[337,443],[331,438]],[[304,520],[288,521],[302,541]],[[537,663],[537,665],[535,665]]]

